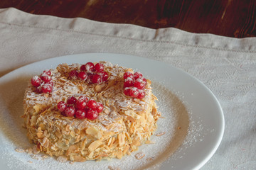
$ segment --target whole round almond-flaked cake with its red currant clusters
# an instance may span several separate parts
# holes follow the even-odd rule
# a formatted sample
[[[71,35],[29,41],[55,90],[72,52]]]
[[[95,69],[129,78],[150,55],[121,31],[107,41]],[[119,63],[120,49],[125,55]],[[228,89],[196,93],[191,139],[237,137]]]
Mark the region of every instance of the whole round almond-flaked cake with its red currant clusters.
[[[160,116],[151,81],[132,69],[99,63],[98,73],[88,64],[60,64],[28,84],[23,118],[41,152],[74,162],[121,159],[149,142]]]

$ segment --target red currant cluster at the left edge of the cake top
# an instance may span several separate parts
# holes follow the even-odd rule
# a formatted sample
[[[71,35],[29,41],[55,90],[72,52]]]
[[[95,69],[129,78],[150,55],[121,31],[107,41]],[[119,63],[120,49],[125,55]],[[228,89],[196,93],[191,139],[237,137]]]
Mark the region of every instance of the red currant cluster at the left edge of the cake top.
[[[40,77],[34,76],[31,84],[36,87],[36,91],[40,94],[47,94],[53,91],[53,80],[49,69],[43,71]]]

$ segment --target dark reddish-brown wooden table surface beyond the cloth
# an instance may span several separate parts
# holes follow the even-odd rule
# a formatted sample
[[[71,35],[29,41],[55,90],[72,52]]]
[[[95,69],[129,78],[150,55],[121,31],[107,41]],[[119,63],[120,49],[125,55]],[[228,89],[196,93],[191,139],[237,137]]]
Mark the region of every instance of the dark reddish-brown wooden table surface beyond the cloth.
[[[256,0],[1,0],[34,14],[82,17],[147,28],[174,27],[191,33],[235,38],[256,36]]]

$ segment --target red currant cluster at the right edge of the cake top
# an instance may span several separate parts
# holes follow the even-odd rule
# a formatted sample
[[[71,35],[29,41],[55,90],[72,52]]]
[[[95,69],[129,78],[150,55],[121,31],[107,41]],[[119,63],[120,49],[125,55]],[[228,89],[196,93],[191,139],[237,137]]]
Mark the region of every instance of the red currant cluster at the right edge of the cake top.
[[[124,94],[132,98],[142,99],[145,96],[144,88],[146,86],[146,79],[142,73],[125,72],[124,73]]]

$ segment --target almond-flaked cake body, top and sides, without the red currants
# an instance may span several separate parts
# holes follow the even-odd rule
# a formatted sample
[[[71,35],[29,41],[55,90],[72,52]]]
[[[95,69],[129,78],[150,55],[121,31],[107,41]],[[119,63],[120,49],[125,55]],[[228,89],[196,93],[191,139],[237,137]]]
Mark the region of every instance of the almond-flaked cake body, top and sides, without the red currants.
[[[66,157],[70,161],[119,158],[138,149],[156,130],[161,113],[156,110],[156,96],[147,80],[142,99],[123,94],[123,74],[132,69],[101,62],[109,79],[102,84],[88,84],[69,78],[80,64],[60,64],[51,69],[54,82],[50,94],[38,94],[31,84],[23,100],[28,138],[41,152]],[[57,103],[69,96],[87,96],[100,101],[104,110],[96,120],[65,117]]]

